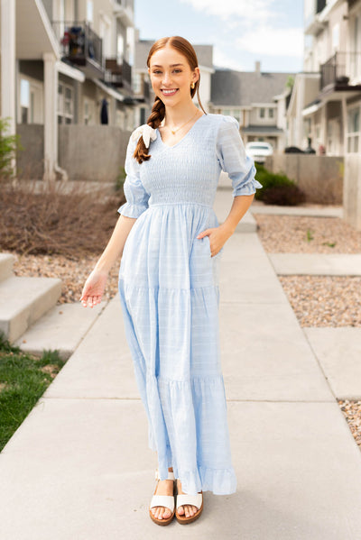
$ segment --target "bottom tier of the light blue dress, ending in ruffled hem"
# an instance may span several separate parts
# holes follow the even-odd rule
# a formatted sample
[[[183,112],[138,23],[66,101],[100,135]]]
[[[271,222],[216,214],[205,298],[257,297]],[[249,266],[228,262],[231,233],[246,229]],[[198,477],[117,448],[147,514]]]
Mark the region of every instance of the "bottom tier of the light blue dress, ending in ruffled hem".
[[[149,419],[148,444],[158,454],[161,479],[172,466],[186,493],[234,493],[223,376],[164,380],[147,371],[145,382],[139,365],[135,373]]]

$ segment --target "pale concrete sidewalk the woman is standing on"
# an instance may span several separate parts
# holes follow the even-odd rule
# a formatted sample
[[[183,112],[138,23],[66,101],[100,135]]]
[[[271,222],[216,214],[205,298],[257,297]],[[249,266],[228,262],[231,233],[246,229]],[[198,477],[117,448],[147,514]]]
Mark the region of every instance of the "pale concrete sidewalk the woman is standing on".
[[[229,239],[220,285],[236,494],[206,491],[186,527],[148,517],[156,456],[115,297],[0,454],[2,540],[361,538],[361,453],[256,233]]]

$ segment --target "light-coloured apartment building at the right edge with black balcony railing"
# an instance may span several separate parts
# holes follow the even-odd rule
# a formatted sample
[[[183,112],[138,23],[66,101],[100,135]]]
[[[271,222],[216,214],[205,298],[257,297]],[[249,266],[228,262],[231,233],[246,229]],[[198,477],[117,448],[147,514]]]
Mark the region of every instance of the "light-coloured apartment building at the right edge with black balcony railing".
[[[361,0],[305,0],[303,72],[288,110],[290,144],[361,151]]]

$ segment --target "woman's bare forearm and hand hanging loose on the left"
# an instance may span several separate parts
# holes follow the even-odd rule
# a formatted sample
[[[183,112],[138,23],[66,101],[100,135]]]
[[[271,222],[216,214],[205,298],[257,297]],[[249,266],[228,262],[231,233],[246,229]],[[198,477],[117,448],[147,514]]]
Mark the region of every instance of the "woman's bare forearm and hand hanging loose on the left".
[[[119,215],[106,249],[99,257],[94,270],[90,272],[81,292],[80,302],[84,307],[94,307],[101,302],[109,270],[116,259],[123,254],[126,238],[136,219],[135,217]]]

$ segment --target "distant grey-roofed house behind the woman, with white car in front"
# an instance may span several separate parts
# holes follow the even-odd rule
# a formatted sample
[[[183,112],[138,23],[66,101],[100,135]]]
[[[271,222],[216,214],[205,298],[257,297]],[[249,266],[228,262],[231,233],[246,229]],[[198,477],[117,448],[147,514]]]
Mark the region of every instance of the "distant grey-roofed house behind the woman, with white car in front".
[[[211,78],[210,111],[238,120],[244,142],[265,141],[275,151],[286,143],[286,108],[294,73],[216,69]]]

